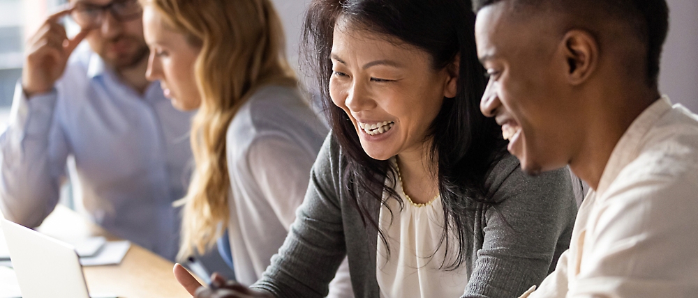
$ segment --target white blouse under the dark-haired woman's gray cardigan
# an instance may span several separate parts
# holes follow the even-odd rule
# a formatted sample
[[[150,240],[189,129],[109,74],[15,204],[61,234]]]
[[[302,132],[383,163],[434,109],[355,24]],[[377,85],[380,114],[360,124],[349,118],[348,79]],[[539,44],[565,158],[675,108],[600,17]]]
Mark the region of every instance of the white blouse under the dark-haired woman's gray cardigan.
[[[388,244],[386,247],[378,235],[376,279],[380,297],[461,297],[468,284],[468,272],[466,266],[453,271],[445,269],[453,262],[458,243],[455,237],[449,237],[449,258],[445,258],[446,242],[439,246],[444,230],[440,198],[415,204],[404,193],[401,179],[394,189],[404,207],[400,210],[399,202],[390,198],[390,209],[380,208],[378,225]],[[383,198],[387,198],[387,193]]]

